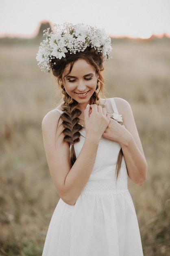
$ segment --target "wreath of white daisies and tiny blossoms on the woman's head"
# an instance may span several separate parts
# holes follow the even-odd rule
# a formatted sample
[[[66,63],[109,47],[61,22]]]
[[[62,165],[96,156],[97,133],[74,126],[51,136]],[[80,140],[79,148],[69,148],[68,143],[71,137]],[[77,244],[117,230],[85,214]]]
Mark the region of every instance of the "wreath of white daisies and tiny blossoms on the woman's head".
[[[94,48],[96,53],[102,52],[104,61],[111,58],[111,38],[105,34],[104,29],[83,23],[53,24],[52,32],[50,28],[44,30],[43,37],[46,39],[40,43],[36,59],[41,71],[45,73],[50,72],[52,59],[65,58],[66,52],[84,52],[87,47]]]

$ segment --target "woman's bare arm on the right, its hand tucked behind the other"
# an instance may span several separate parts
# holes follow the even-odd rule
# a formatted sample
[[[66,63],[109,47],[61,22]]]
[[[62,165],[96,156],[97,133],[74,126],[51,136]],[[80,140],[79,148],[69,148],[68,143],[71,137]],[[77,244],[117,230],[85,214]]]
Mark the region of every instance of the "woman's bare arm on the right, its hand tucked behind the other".
[[[126,128],[111,119],[103,136],[120,144],[130,179],[142,185],[146,180],[147,163],[131,106],[124,99],[115,98],[115,102]]]

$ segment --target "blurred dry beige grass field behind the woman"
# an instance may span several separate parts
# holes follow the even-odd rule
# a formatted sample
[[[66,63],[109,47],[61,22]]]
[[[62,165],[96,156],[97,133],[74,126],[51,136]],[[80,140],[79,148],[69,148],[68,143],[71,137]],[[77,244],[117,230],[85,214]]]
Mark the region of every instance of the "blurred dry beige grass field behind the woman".
[[[0,256],[40,256],[59,200],[41,121],[58,98],[37,43],[0,45]],[[129,181],[145,256],[170,255],[170,40],[113,40],[107,97],[129,101],[148,162],[143,186]]]

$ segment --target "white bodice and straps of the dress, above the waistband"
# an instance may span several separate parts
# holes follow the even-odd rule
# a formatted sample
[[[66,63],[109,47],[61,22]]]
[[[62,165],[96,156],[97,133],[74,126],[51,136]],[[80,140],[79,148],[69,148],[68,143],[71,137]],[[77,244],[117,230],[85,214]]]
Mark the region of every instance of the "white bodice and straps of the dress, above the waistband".
[[[123,121],[122,115],[118,113],[118,109],[116,107],[114,98],[111,98],[109,100],[113,108],[113,114],[112,114],[113,118],[116,119],[117,121],[122,122]],[[59,110],[59,109],[55,109],[55,110],[57,110],[61,114],[63,113],[62,110]],[[74,144],[76,157],[78,157],[85,141],[85,136],[86,136],[85,128],[82,128],[80,133],[81,133],[80,141]],[[112,183],[119,184],[123,180],[123,182],[127,183],[127,169],[126,169],[126,163],[124,161],[124,157],[122,159],[122,165],[121,165],[118,181],[116,182],[116,177],[115,177],[116,164],[117,164],[120,148],[121,148],[120,144],[117,143],[116,141],[111,141],[104,137],[100,139],[96,160],[94,163],[92,173],[89,177],[89,181],[112,180]]]

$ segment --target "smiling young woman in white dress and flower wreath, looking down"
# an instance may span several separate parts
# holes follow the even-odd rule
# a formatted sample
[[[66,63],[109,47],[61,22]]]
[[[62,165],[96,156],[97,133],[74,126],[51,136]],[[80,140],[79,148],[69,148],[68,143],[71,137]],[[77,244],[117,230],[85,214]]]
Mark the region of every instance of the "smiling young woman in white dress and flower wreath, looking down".
[[[60,200],[43,256],[142,256],[127,177],[142,185],[147,164],[124,99],[102,99],[104,31],[83,24],[47,29],[37,61],[52,70],[63,102],[42,122],[48,166]],[[120,113],[120,114],[119,114]]]

